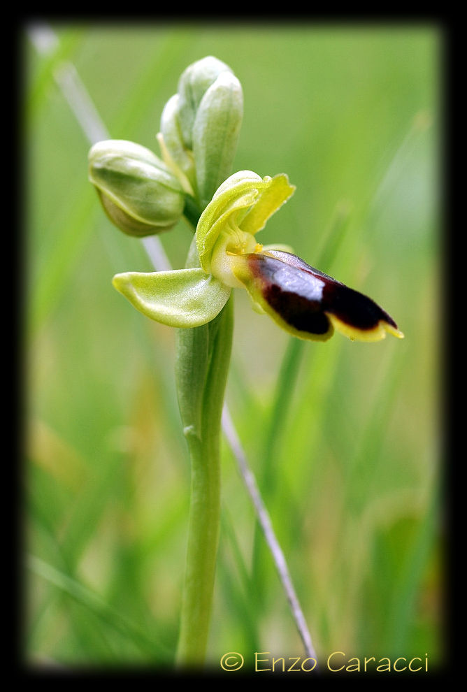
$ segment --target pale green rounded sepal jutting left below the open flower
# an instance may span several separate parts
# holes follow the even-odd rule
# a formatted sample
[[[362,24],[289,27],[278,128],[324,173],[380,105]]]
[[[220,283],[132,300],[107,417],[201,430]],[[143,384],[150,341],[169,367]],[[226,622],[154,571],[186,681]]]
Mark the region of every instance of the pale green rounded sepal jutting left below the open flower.
[[[227,303],[231,290],[200,268],[126,272],[115,275],[113,285],[143,315],[174,327],[207,324]]]

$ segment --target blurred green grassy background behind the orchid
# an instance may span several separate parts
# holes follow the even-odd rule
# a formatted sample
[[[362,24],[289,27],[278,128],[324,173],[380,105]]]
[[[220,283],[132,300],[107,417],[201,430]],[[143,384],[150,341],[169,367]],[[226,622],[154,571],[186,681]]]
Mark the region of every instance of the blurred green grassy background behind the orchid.
[[[38,25],[37,25],[38,26]],[[150,271],[87,181],[89,140],[57,79],[78,71],[111,138],[159,153],[161,110],[205,55],[239,78],[235,169],[287,173],[261,231],[368,294],[404,340],[296,340],[236,291],[227,403],[323,661],[443,662],[439,299],[441,52],[430,24],[24,26],[24,656],[34,665],[170,663],[189,464],[174,332],[136,312],[115,273]],[[49,27],[49,28],[50,28]],[[180,223],[161,240],[182,267]],[[440,502],[441,496],[441,502]],[[301,656],[229,447],[208,662]],[[254,557],[253,557],[254,556]]]

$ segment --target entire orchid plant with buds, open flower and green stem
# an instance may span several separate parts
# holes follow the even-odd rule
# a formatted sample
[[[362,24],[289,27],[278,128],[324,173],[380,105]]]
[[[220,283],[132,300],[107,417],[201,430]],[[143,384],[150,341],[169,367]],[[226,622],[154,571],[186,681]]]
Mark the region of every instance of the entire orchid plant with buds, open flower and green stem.
[[[185,268],[125,272],[115,288],[144,315],[178,327],[175,381],[192,473],[177,661],[203,661],[220,526],[220,428],[231,353],[234,289],[293,336],[324,341],[337,329],[378,341],[403,334],[371,298],[306,264],[288,245],[257,234],[295,187],[285,173],[229,173],[243,117],[240,82],[213,56],[180,76],[161,114],[161,159],[127,140],[89,152],[89,180],[110,220],[143,237],[184,217],[196,231]],[[196,329],[195,329],[196,328]]]

